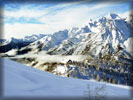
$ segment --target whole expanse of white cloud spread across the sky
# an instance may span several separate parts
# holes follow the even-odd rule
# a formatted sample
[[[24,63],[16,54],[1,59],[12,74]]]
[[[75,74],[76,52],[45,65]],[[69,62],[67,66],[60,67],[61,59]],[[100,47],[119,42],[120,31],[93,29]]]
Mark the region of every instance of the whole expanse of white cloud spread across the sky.
[[[115,9],[118,5],[104,2],[95,4],[74,2],[55,5],[28,5],[15,11],[4,10],[4,22],[11,18],[16,19],[14,23],[5,23],[4,35],[6,38],[12,36],[20,38],[25,35],[52,34],[71,27],[82,27],[88,23],[89,19],[102,17],[109,13],[110,9]],[[21,18],[25,19],[25,23],[21,23]],[[32,19],[36,19],[43,24],[31,23]]]

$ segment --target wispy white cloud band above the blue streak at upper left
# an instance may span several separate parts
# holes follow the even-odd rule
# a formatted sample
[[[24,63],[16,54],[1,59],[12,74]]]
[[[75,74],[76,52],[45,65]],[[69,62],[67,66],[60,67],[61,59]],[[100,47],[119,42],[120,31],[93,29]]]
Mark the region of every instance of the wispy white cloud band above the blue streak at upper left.
[[[38,18],[41,16],[44,16],[45,14],[48,14],[51,11],[55,11],[56,9],[63,9],[72,5],[79,4],[79,2],[73,2],[73,3],[62,3],[62,4],[27,4],[24,6],[21,6],[18,10],[15,10],[15,8],[11,8],[10,10],[4,10],[4,17],[13,17],[13,18]],[[48,7],[46,5],[49,5]],[[10,5],[11,6],[11,5]],[[12,5],[13,6],[13,5]],[[46,7],[45,7],[46,6]],[[6,9],[6,8],[5,8]]]

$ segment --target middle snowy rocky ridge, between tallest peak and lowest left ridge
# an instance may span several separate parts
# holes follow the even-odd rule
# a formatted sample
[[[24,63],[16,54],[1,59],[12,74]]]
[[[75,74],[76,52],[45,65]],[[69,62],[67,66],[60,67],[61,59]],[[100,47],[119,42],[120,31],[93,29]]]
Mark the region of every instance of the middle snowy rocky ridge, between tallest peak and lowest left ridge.
[[[88,26],[81,28],[72,28],[68,30],[68,38],[62,41],[58,46],[48,50],[48,54],[72,55],[78,44],[84,41],[90,34]]]

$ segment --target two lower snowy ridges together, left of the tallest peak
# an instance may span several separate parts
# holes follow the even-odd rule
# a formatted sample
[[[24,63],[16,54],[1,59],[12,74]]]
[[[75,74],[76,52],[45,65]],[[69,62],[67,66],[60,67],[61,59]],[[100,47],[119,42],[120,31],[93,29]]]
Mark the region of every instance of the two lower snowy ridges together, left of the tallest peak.
[[[81,28],[74,27],[55,32],[52,35],[47,35],[25,48],[31,48],[37,52],[46,51],[48,54],[63,54],[64,51],[69,51],[67,46],[70,47],[70,49],[72,46],[75,47],[77,44],[82,42],[88,34],[90,34],[88,26]],[[54,50],[56,51],[54,52]]]

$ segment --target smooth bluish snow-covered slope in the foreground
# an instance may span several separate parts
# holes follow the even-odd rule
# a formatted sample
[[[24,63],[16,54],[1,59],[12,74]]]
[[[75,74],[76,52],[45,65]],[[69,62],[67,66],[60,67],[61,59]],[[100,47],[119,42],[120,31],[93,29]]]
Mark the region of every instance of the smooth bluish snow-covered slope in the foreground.
[[[4,70],[4,97],[84,98],[100,95],[131,99],[133,89],[128,86],[61,77],[11,60],[3,58],[0,60],[3,62]]]

